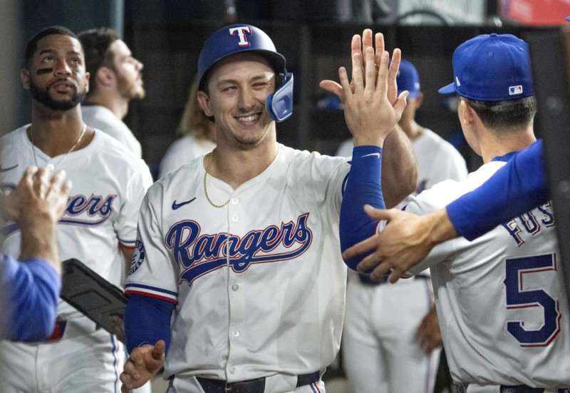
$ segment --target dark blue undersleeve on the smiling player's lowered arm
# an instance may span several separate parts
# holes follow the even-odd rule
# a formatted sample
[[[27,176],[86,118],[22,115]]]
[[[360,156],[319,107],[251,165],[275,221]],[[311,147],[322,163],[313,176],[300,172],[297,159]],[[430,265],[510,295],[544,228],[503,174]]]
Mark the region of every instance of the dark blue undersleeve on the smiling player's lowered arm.
[[[158,340],[170,344],[170,317],[174,303],[143,295],[130,295],[125,308],[125,340],[128,352]]]

